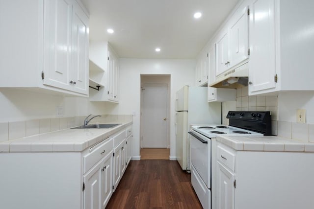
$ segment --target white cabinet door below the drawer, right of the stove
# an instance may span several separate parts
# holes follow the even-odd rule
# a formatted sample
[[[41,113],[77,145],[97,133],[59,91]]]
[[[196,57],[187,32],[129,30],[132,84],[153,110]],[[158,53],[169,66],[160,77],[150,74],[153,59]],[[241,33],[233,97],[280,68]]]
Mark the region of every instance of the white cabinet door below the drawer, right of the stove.
[[[217,209],[235,208],[235,175],[217,162]]]

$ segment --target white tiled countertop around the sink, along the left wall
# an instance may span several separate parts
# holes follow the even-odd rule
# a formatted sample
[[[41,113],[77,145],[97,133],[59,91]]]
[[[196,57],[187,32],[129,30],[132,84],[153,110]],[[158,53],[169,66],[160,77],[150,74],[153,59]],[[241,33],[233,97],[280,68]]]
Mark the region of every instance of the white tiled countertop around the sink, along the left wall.
[[[0,142],[0,152],[81,152],[132,122],[113,128],[64,129],[46,134]]]

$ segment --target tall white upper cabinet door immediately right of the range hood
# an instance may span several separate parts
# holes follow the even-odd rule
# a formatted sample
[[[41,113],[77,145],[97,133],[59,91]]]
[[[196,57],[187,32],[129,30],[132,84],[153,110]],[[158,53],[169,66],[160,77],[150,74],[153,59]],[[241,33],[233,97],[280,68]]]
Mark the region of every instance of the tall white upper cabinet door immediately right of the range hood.
[[[275,88],[275,0],[254,0],[249,33],[249,92]]]

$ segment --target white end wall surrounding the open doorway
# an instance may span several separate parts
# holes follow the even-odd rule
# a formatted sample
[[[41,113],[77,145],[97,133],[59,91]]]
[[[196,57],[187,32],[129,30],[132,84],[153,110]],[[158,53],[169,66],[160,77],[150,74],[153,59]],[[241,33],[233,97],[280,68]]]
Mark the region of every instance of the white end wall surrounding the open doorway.
[[[120,103],[111,114],[133,116],[133,157],[140,155],[140,94],[141,74],[170,74],[170,158],[175,158],[175,98],[183,85],[193,85],[195,60],[193,59],[120,59]]]

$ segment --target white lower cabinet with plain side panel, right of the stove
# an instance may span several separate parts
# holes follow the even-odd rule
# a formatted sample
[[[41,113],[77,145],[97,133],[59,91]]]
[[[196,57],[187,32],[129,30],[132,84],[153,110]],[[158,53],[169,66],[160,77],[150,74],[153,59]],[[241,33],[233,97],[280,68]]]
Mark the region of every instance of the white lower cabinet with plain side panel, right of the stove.
[[[216,209],[313,209],[313,152],[216,150]]]

